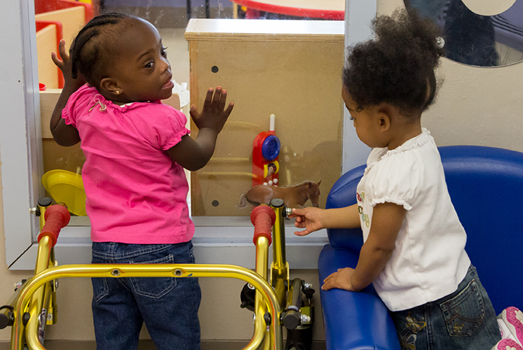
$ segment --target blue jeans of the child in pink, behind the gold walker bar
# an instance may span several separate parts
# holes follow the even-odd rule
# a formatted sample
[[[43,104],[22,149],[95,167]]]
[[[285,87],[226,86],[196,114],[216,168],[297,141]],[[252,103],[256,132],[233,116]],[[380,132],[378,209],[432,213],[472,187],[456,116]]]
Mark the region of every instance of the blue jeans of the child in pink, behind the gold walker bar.
[[[93,264],[194,263],[179,244],[93,242]],[[145,322],[158,350],[199,350],[201,290],[195,277],[93,278],[97,350],[137,349]]]

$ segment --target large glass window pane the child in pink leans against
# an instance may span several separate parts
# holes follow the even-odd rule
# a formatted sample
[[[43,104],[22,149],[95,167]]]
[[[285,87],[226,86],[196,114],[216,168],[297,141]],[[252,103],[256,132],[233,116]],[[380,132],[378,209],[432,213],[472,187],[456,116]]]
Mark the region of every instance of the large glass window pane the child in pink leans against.
[[[46,34],[46,45],[38,46],[39,67],[49,63],[49,52],[57,51],[60,38],[70,45],[89,19],[91,6],[93,15],[123,12],[153,23],[168,47],[173,78],[186,86],[191,104],[196,104],[199,110],[208,87],[222,85],[228,90],[235,108],[219,135],[215,155],[201,171],[191,174],[189,201],[193,216],[248,216],[249,209],[238,207],[240,196],[255,183],[269,181],[280,187],[321,181],[320,207],[325,207],[328,190],[341,173],[343,102],[340,91],[345,1],[288,0],[281,6],[282,1],[83,0],[81,3],[87,3],[88,8],[83,8],[80,2],[73,3],[81,6],[83,12],[75,6],[67,7],[71,3],[63,7],[67,0],[45,1],[55,4],[53,8],[43,8],[40,1],[44,2],[35,1],[37,20],[59,22],[62,26],[37,25],[37,31],[42,31],[40,36],[43,38]],[[260,3],[264,4],[260,7]],[[219,33],[209,40],[203,31],[185,34],[189,18],[223,19],[224,22],[218,20],[214,25],[236,21],[232,18],[280,21],[255,21],[263,23],[252,27],[253,32],[241,40],[237,40],[238,33],[249,26],[238,22],[223,31],[212,27],[212,21],[200,21],[208,22],[210,27],[205,30],[209,33]],[[198,21],[193,22],[198,27]],[[278,26],[275,22],[287,24]],[[330,23],[336,25],[333,27]],[[236,38],[231,40],[233,33]],[[48,130],[63,78],[55,67],[46,67],[46,74],[39,74],[41,83],[46,85],[41,92],[44,172],[62,169],[81,174],[85,157],[80,146],[58,146]],[[185,106],[189,100],[184,102],[182,98],[180,102],[179,107],[189,118],[188,106]],[[260,168],[255,170],[253,158],[256,162],[258,153],[267,152],[267,147],[272,147],[274,152],[276,147],[276,141],[269,137],[273,144],[264,146],[261,142],[261,149],[253,149],[260,133],[270,136],[271,114],[275,115],[274,134],[280,142],[278,158],[261,160]],[[195,137],[196,127],[192,130]],[[305,205],[312,204],[309,201]]]

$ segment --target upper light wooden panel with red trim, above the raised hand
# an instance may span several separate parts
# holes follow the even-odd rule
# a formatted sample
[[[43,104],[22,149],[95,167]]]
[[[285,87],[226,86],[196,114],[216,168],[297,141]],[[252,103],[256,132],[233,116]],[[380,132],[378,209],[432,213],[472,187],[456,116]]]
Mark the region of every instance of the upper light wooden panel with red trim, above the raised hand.
[[[69,52],[69,46],[76,34],[86,25],[86,10],[83,6],[64,8],[46,13],[34,15],[36,20],[56,21],[62,23],[65,48]]]

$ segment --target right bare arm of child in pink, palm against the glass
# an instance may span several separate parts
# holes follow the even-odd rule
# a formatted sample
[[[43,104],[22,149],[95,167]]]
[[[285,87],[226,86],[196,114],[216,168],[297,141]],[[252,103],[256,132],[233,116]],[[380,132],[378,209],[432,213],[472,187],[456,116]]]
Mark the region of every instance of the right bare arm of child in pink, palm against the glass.
[[[201,113],[194,106],[191,107],[191,118],[199,129],[196,139],[185,135],[168,150],[172,160],[191,172],[201,169],[209,162],[215,152],[218,134],[233,110],[232,103],[225,109],[226,90],[218,86],[214,96],[213,92],[212,88],[208,90]]]

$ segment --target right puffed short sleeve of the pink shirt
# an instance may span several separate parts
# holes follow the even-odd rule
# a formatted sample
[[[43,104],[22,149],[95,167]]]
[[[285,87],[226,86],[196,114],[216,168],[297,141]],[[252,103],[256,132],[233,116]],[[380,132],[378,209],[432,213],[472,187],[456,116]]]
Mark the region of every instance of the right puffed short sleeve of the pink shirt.
[[[154,148],[167,151],[191,130],[186,128],[187,118],[181,111],[161,103],[138,107],[134,123],[137,131]]]

